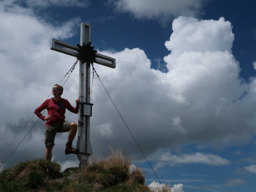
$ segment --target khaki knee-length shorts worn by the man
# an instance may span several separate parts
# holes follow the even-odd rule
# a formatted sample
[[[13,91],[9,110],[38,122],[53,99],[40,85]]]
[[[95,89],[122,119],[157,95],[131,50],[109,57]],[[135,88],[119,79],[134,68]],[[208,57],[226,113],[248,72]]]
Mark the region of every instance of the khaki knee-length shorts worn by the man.
[[[54,146],[54,138],[57,132],[68,132],[69,126],[72,122],[64,121],[62,123],[50,125],[45,127],[45,146]]]

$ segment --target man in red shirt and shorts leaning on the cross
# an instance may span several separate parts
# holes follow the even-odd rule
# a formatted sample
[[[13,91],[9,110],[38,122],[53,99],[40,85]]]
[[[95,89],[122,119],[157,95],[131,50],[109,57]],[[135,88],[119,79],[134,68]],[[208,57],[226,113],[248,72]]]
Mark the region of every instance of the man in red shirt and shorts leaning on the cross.
[[[52,94],[54,95],[53,98],[47,99],[43,102],[35,110],[35,114],[46,121],[46,128],[45,128],[45,160],[51,161],[52,160],[52,148],[54,144],[54,138],[57,132],[69,132],[68,133],[68,142],[65,148],[65,154],[78,154],[79,151],[72,148],[72,142],[76,136],[77,131],[77,124],[75,122],[67,122],[65,121],[65,112],[66,109],[72,113],[78,113],[78,106],[79,106],[79,98],[76,99],[76,108],[74,108],[68,100],[61,98],[63,93],[63,87],[55,84],[52,88]],[[47,109],[48,116],[43,116],[41,111]]]

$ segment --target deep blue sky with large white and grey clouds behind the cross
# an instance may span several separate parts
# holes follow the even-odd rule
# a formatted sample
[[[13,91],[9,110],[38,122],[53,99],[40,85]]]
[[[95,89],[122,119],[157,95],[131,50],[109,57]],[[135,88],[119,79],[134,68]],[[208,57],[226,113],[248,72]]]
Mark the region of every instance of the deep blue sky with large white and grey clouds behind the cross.
[[[163,184],[176,192],[256,191],[254,7],[249,0],[0,1],[1,151],[76,61],[50,50],[51,38],[76,45],[83,21],[98,52],[116,58],[115,69],[95,68]],[[78,68],[63,97],[75,104]],[[94,155],[122,148],[157,186],[97,78],[92,103]],[[67,112],[66,120],[77,116]],[[55,143],[53,158],[63,168],[79,164],[64,155],[66,134]],[[4,167],[43,157],[39,121]]]

